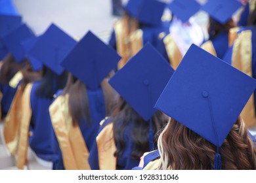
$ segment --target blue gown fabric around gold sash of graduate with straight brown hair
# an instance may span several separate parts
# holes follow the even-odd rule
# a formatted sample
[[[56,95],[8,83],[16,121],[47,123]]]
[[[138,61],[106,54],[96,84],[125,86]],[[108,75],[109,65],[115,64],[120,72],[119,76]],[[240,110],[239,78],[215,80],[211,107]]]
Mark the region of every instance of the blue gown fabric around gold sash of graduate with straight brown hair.
[[[58,95],[60,95],[61,93],[62,92],[58,92]],[[89,100],[91,125],[89,125],[86,120],[81,120],[79,122],[79,127],[83,135],[83,139],[85,139],[85,144],[90,152],[96,140],[96,135],[98,134],[100,121],[106,116],[106,107],[104,101],[104,93],[101,88],[98,88],[97,90],[90,90],[89,88],[87,88],[87,95]],[[54,150],[56,150],[58,154],[58,159],[54,161],[53,169],[65,169],[62,159],[62,153],[56,137],[54,140]]]

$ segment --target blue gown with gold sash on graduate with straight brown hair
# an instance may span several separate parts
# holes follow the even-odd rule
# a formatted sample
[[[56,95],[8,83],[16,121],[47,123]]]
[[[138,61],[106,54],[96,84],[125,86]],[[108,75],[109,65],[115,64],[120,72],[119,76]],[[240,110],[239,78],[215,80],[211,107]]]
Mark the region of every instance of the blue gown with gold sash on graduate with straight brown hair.
[[[54,148],[57,150],[58,159],[54,162],[53,169],[90,169],[89,150],[96,140],[100,121],[106,116],[106,110],[101,88],[87,89],[87,95],[91,124],[85,120],[81,120],[79,125],[72,124],[68,94],[58,96],[49,108],[58,141]]]

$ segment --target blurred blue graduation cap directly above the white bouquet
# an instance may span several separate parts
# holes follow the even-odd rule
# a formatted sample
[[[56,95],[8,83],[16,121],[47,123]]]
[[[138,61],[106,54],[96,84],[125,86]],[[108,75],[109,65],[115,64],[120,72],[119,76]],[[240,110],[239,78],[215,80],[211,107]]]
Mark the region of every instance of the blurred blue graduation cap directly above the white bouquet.
[[[174,0],[168,5],[171,12],[177,16],[183,23],[200,10],[201,5],[194,0]]]

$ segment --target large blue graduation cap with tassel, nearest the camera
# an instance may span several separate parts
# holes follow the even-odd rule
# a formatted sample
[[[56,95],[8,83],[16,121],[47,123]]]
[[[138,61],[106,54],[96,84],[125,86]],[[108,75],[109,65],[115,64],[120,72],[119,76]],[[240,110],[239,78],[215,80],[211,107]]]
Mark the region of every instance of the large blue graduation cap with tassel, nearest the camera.
[[[156,108],[215,144],[219,159],[218,148],[255,88],[255,79],[192,44]]]

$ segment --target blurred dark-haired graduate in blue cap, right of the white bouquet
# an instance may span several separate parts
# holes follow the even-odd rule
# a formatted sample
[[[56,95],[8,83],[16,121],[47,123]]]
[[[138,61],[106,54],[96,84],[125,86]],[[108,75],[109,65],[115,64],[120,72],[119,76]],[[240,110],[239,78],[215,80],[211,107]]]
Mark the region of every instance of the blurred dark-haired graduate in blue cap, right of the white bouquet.
[[[223,59],[236,37],[236,30],[231,30],[236,27],[232,15],[240,7],[242,3],[233,0],[209,0],[203,5],[202,10],[209,14],[209,40],[202,44],[204,50]]]

